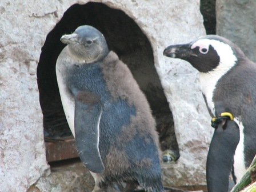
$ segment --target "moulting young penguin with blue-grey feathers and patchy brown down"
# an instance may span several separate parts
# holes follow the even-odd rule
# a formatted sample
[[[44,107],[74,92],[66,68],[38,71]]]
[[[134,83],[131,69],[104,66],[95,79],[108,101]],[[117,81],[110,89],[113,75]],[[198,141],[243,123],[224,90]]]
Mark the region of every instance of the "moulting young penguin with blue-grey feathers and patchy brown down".
[[[61,41],[67,46],[56,64],[59,93],[93,191],[164,191],[155,120],[128,67],[92,26]]]

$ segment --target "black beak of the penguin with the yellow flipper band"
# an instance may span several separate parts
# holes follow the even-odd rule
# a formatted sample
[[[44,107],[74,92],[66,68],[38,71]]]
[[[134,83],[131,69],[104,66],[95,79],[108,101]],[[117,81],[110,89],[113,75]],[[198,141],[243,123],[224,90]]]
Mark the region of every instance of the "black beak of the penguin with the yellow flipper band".
[[[179,58],[184,60],[191,56],[197,57],[197,54],[193,53],[191,50],[190,43],[182,45],[170,45],[163,51],[163,55],[166,57]]]

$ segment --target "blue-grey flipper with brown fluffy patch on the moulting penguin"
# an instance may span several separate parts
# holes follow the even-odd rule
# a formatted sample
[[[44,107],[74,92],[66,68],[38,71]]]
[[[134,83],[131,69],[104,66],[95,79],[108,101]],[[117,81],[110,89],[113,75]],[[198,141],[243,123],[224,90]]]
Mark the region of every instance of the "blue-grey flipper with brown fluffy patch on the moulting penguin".
[[[74,93],[74,92],[73,92]],[[105,169],[99,153],[99,121],[102,114],[97,94],[75,91],[75,142],[83,164],[94,173]]]

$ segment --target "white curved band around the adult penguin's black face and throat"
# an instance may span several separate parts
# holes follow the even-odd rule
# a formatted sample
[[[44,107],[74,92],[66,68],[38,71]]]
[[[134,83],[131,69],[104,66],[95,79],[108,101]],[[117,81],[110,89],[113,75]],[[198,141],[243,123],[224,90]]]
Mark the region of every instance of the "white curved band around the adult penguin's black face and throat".
[[[213,103],[213,91],[217,85],[219,79],[227,73],[235,65],[237,57],[235,57],[233,50],[226,43],[214,40],[214,39],[199,39],[193,43],[192,49],[199,47],[199,50],[203,51],[207,49],[208,53],[209,46],[213,46],[217,54],[219,55],[219,65],[207,73],[199,73],[199,79],[201,83],[202,93],[205,95],[207,104],[211,110],[211,113],[215,114],[214,103]],[[203,53],[205,54],[205,53]]]

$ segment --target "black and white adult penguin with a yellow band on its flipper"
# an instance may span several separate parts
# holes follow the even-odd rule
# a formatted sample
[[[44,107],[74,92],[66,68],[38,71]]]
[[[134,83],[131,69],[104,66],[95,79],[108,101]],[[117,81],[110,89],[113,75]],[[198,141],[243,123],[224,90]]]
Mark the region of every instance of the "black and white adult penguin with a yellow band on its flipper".
[[[238,182],[256,154],[256,65],[218,35],[171,45],[163,55],[183,59],[199,71],[202,94],[216,124],[207,155],[207,186],[210,192],[227,191],[231,169]]]

